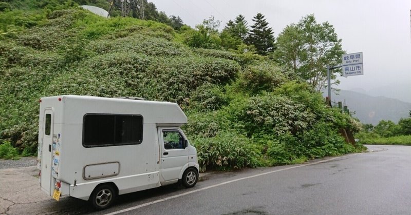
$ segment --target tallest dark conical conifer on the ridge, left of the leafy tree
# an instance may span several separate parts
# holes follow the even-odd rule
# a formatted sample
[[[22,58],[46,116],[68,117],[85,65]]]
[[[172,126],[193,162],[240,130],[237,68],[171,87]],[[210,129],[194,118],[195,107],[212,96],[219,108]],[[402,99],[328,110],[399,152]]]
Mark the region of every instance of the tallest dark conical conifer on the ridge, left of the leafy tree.
[[[275,38],[272,28],[268,27],[268,23],[264,15],[257,13],[253,17],[254,25],[251,26],[251,31],[247,37],[247,44],[253,45],[258,54],[267,55],[275,49]]]

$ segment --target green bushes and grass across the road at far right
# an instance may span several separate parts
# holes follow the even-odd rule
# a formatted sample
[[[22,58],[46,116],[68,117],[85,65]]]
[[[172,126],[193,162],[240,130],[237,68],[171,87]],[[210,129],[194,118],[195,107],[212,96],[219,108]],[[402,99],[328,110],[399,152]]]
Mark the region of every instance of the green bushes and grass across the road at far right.
[[[409,118],[401,119],[397,124],[382,120],[378,125],[363,125],[356,135],[362,144],[411,145],[411,111]]]

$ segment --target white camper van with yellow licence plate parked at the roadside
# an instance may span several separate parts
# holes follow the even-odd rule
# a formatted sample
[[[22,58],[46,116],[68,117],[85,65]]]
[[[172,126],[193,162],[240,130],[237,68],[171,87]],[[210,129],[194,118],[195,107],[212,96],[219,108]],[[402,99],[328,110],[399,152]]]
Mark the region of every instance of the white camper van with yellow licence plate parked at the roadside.
[[[61,95],[40,100],[40,185],[97,209],[117,195],[198,180],[197,151],[175,103]]]

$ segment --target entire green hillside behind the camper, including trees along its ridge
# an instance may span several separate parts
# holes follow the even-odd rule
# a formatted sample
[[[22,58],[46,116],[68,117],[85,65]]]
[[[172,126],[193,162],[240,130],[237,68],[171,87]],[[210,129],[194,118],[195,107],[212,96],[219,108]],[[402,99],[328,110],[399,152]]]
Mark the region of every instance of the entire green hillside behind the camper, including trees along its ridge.
[[[338,64],[344,51],[333,27],[313,15],[274,38],[262,14],[251,27],[239,15],[218,31],[214,17],[195,29],[176,28],[158,19],[100,17],[76,1],[38,2],[45,6],[9,1],[0,12],[0,141],[7,150],[36,153],[38,100],[60,94],[178,103],[202,171],[363,149],[339,134],[358,131],[358,123],[327,107],[319,93],[325,65]]]

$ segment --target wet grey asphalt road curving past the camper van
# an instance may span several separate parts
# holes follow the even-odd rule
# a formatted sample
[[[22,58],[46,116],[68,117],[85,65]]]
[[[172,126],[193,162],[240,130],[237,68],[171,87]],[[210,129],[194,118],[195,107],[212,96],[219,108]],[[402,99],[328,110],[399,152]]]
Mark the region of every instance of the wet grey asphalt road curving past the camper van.
[[[13,204],[7,213],[411,214],[411,146],[368,148],[303,165],[211,173],[191,189],[173,185],[120,196],[104,211],[63,198]]]

